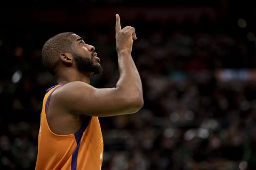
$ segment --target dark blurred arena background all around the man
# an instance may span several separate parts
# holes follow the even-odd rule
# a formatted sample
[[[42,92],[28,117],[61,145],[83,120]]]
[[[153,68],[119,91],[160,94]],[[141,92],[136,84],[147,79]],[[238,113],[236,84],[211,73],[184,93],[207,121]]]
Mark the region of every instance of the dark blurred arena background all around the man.
[[[74,32],[94,45],[104,73],[91,84],[115,86],[115,13],[136,29],[145,104],[100,118],[102,169],[256,169],[256,10],[231,0],[1,6],[0,169],[35,167],[42,98],[56,84],[41,62],[50,37]]]

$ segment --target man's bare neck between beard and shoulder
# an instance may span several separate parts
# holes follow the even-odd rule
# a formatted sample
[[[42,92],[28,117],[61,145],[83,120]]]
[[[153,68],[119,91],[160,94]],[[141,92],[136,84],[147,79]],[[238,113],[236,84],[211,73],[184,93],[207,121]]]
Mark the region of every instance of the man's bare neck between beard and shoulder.
[[[90,78],[93,74],[84,75],[78,70],[68,68],[68,69],[59,69],[55,75],[57,84],[66,84],[74,81],[81,81],[84,83],[90,84]]]

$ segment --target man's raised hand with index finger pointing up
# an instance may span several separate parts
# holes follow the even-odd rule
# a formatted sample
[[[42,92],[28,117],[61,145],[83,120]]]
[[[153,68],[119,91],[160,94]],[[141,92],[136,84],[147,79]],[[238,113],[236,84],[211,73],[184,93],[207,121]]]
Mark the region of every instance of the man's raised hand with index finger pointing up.
[[[117,53],[127,51],[132,52],[133,40],[136,40],[135,29],[131,26],[126,26],[123,29],[120,24],[120,17],[116,14],[116,50]]]

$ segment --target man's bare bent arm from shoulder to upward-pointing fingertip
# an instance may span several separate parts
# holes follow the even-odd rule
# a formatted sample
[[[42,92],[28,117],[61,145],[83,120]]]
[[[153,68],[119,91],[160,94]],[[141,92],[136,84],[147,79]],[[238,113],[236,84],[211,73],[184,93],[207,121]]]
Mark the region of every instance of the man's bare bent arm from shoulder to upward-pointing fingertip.
[[[64,107],[70,113],[93,116],[131,114],[143,106],[142,84],[132,59],[135,29],[121,29],[120,17],[116,15],[116,47],[119,80],[115,88],[94,88],[84,82],[70,82],[57,89],[52,103]]]

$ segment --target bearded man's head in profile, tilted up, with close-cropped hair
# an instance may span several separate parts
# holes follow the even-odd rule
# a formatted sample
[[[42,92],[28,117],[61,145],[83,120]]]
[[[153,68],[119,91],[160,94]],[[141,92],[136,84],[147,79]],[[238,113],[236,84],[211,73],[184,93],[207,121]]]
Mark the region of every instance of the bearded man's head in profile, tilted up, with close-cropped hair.
[[[42,47],[42,61],[54,75],[60,66],[73,66],[84,75],[100,74],[100,59],[94,50],[94,46],[86,44],[78,35],[60,33],[46,41]]]

